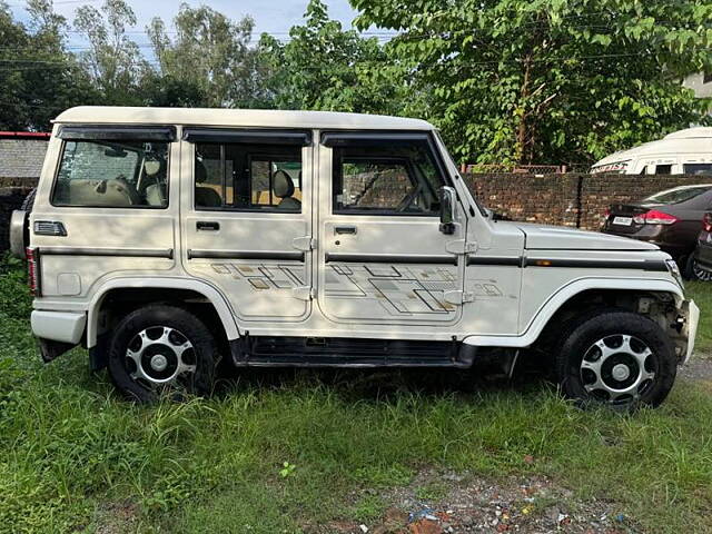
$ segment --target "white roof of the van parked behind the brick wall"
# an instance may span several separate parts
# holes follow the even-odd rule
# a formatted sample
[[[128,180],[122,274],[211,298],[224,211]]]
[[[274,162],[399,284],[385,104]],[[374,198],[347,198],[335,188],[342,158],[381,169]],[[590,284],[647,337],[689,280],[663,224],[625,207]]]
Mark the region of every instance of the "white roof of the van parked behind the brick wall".
[[[606,156],[593,167],[630,161],[641,156],[674,156],[678,154],[712,154],[712,127],[700,126],[674,131],[656,141],[645,142],[637,147]]]

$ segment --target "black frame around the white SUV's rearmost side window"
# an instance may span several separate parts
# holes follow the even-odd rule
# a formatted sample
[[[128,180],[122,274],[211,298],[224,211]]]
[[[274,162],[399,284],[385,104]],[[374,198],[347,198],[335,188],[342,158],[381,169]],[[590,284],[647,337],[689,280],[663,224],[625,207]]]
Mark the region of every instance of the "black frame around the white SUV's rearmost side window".
[[[172,128],[172,131],[175,134],[175,127],[167,127],[167,128],[145,128],[144,130],[146,131],[156,131],[156,130],[165,130],[165,131],[171,131],[170,129]],[[174,138],[172,140],[169,138],[166,139],[156,139],[156,138],[148,138],[150,136],[147,136],[147,138],[141,139],[140,136],[138,137],[126,137],[127,135],[123,134],[123,130],[126,130],[126,132],[130,132],[136,134],[141,131],[141,128],[121,128],[121,127],[109,127],[106,130],[111,130],[111,131],[116,131],[118,132],[116,135],[116,137],[113,139],[103,139],[101,136],[102,131],[106,131],[105,129],[100,128],[100,127],[78,127],[77,130],[81,129],[85,131],[89,131],[91,132],[92,136],[98,136],[98,137],[69,137],[67,135],[65,135],[62,137],[62,131],[67,131],[68,127],[65,127],[63,130],[62,128],[60,128],[59,135],[57,136],[59,139],[61,139],[61,147],[59,150],[59,158],[57,160],[57,168],[55,169],[55,176],[52,178],[52,187],[50,189],[50,194],[49,194],[49,204],[50,206],[52,206],[53,208],[88,208],[88,209],[152,209],[152,210],[165,210],[168,209],[170,207],[170,167],[171,167],[171,157],[170,157],[170,152],[171,152],[171,148],[172,148],[172,144],[176,142],[176,139]],[[96,134],[95,134],[96,132]],[[111,142],[111,141],[132,141],[132,142],[165,142],[166,144],[166,205],[165,206],[149,206],[149,205],[134,205],[134,206],[110,206],[110,205],[89,205],[89,204],[57,204],[55,201],[55,194],[57,192],[57,186],[59,184],[59,174],[61,171],[62,168],[62,162],[65,161],[65,152],[67,150],[67,144],[68,142],[97,142],[97,141],[105,141],[105,142]],[[136,170],[134,171],[134,175],[136,176]]]

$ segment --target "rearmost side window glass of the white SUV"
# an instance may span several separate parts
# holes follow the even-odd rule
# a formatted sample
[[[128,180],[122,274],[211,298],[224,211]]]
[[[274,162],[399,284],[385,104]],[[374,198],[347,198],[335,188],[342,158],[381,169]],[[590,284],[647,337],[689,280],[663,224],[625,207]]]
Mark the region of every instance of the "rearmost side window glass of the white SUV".
[[[167,142],[65,141],[52,204],[164,208],[167,179]]]

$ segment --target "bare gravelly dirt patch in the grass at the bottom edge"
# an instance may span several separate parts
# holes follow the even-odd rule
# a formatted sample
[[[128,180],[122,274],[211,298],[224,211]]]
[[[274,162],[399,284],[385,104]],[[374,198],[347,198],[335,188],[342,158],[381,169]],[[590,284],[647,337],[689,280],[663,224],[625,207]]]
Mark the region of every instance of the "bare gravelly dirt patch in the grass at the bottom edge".
[[[389,506],[378,521],[332,523],[312,533],[637,533],[615,503],[577,501],[545,477],[512,476],[493,482],[473,474],[425,469],[405,487],[377,494]]]

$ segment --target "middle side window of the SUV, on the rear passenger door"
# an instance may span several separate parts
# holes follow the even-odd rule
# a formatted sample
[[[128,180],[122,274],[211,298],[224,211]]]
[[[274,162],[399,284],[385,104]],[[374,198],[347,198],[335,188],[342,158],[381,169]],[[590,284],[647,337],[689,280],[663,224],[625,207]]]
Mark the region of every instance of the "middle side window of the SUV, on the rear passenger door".
[[[196,208],[301,211],[301,148],[196,144]]]

